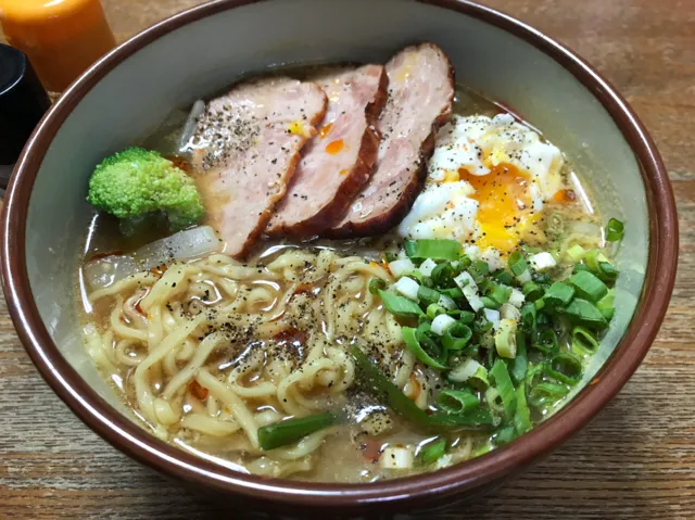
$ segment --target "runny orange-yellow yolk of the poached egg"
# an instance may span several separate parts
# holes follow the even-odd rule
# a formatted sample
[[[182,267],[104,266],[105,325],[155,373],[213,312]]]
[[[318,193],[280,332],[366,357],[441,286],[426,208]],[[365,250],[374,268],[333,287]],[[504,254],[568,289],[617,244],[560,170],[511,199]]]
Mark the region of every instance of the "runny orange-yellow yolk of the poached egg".
[[[476,190],[470,198],[479,204],[476,220],[481,233],[477,245],[483,251],[494,248],[502,253],[516,249],[539,218],[529,191],[530,176],[508,163],[493,166],[483,176],[471,175],[464,168],[458,174],[460,180]]]

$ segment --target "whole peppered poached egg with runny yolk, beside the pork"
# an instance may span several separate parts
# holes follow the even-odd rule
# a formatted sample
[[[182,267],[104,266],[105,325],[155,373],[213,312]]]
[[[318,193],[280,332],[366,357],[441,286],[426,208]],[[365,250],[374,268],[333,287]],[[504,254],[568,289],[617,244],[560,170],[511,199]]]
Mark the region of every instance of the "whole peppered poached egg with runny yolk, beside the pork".
[[[559,149],[509,114],[454,115],[437,135],[426,187],[399,227],[410,239],[454,239],[514,251],[563,189]]]

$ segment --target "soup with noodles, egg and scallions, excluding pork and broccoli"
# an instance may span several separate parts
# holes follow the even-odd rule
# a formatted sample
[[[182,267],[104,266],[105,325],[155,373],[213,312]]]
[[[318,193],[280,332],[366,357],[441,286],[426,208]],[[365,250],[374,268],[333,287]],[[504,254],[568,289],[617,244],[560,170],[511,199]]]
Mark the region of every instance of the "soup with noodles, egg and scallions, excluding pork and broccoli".
[[[619,231],[533,128],[463,86],[453,113],[413,207],[375,237],[262,237],[235,259],[216,229],[124,236],[96,213],[86,346],[146,429],[239,471],[371,482],[561,405],[611,316]],[[172,156],[184,122],[144,145]],[[175,163],[200,179],[195,150]]]

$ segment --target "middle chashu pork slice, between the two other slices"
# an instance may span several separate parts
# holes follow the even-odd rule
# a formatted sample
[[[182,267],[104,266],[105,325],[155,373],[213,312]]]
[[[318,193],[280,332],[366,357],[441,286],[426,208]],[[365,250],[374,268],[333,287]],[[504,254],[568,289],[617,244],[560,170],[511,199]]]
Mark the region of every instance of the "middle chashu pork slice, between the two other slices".
[[[333,69],[311,78],[328,96],[319,134],[302,151],[286,196],[266,232],[312,237],[336,224],[369,179],[380,137],[376,124],[387,99],[382,65]]]

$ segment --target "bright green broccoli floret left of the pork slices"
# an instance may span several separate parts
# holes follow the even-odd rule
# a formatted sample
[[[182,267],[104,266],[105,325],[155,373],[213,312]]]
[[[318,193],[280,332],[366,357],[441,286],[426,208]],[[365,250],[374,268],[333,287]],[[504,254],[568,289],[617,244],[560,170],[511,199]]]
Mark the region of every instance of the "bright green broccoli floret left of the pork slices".
[[[172,231],[197,224],[204,213],[193,179],[157,152],[142,148],[104,158],[89,179],[87,201],[122,219],[162,212]]]

